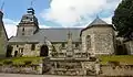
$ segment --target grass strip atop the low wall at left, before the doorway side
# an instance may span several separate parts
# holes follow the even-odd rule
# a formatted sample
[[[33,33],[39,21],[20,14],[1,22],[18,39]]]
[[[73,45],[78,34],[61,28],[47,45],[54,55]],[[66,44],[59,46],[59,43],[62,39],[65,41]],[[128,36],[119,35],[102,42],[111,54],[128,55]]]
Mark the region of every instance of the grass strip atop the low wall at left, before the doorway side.
[[[12,58],[0,58],[0,64],[4,65],[4,63],[12,62],[13,65],[24,65],[25,62],[31,62],[31,64],[35,65],[42,63],[43,57],[12,57]]]

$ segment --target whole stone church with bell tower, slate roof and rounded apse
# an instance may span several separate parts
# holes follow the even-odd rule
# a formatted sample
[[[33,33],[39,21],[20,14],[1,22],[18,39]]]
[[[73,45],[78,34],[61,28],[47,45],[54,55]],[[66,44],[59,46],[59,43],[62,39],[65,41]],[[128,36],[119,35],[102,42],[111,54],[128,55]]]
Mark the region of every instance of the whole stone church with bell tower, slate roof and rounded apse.
[[[9,40],[12,57],[114,55],[119,45],[117,41],[122,42],[115,37],[115,28],[99,16],[84,29],[40,29],[33,8],[29,8],[17,26],[17,35]],[[132,44],[130,46],[131,50]]]

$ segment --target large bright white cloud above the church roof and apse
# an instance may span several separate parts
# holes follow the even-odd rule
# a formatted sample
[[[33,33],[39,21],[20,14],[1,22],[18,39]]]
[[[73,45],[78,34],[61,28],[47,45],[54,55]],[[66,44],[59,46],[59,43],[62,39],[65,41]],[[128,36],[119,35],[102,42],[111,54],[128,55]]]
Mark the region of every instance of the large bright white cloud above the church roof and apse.
[[[60,23],[62,26],[82,25],[92,21],[98,13],[113,12],[120,1],[121,0],[51,0],[50,8],[43,10],[41,16],[47,21]],[[111,15],[112,14],[109,14],[104,19],[109,22]]]

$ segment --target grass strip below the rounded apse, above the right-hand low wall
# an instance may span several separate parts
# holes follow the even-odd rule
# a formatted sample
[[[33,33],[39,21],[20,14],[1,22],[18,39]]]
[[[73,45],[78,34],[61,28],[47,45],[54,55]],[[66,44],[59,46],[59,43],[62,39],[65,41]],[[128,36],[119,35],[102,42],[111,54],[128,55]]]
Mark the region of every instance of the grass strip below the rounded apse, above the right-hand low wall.
[[[99,56],[101,64],[106,65],[109,62],[120,62],[124,65],[133,65],[133,55],[112,55],[112,56]]]

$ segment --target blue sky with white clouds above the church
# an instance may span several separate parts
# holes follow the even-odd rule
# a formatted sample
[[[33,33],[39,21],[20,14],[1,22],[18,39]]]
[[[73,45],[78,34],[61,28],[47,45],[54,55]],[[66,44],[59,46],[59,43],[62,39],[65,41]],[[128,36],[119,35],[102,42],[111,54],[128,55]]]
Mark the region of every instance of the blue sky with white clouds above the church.
[[[20,22],[32,0],[4,1],[3,22],[8,36],[16,35]],[[85,28],[96,15],[111,23],[111,18],[121,0],[33,0],[40,28]]]

